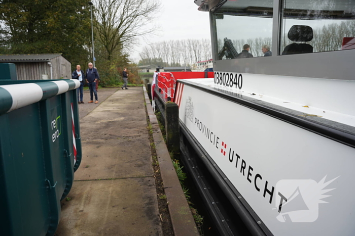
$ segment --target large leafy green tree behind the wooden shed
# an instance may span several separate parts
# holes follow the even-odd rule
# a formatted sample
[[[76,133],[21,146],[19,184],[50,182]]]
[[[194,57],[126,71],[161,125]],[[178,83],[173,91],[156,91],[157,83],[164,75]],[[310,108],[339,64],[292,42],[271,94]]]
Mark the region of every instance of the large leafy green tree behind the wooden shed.
[[[0,0],[0,53],[62,53],[89,60],[91,21],[86,0]]]

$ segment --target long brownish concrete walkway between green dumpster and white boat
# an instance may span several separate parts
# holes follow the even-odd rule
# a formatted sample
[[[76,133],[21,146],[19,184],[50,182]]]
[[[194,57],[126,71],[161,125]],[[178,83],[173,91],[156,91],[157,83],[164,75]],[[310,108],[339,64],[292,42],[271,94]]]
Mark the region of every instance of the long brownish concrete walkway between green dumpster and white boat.
[[[81,118],[83,160],[55,235],[162,235],[141,87]]]

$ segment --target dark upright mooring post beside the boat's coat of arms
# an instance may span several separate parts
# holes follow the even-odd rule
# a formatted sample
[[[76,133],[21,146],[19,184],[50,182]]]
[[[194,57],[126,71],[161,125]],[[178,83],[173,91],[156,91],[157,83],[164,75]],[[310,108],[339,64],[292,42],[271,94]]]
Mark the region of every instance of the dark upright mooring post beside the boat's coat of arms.
[[[180,152],[179,107],[176,103],[165,104],[165,136],[169,152]]]

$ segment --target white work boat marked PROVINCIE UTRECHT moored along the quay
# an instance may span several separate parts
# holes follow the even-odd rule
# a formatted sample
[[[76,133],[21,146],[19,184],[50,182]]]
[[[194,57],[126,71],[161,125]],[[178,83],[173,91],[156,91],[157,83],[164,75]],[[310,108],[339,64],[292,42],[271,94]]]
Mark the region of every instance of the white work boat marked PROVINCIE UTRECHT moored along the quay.
[[[355,235],[355,1],[195,3],[215,72],[172,73],[168,100],[212,228]]]

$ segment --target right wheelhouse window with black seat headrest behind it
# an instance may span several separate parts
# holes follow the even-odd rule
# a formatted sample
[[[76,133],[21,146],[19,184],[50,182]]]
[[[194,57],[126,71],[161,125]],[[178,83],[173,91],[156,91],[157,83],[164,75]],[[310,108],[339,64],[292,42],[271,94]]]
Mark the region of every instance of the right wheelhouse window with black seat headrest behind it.
[[[355,1],[282,1],[281,55],[355,49]]]

